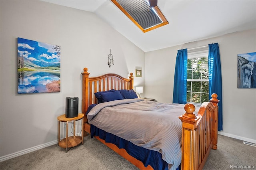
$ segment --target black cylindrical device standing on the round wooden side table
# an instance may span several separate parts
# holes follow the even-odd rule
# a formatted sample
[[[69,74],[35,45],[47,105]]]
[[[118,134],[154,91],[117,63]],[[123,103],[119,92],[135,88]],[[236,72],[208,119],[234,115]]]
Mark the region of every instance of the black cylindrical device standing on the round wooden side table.
[[[78,97],[66,97],[66,118],[78,117]]]

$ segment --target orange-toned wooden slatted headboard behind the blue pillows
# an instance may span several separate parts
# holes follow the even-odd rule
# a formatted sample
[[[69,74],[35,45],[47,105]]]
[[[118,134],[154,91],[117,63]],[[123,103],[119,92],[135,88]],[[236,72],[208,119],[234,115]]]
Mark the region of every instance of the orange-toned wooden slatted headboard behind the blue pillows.
[[[82,113],[86,113],[88,107],[97,103],[94,93],[98,91],[108,91],[111,89],[133,89],[133,73],[130,73],[129,79],[114,73],[108,73],[98,77],[89,77],[88,68],[84,68],[82,82]]]

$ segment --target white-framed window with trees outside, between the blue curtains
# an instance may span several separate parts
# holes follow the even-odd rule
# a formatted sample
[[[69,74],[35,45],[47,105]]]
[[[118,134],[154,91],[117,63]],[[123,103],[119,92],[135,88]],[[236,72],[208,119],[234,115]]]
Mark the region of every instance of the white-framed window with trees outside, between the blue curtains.
[[[209,101],[208,46],[188,50],[187,102]]]

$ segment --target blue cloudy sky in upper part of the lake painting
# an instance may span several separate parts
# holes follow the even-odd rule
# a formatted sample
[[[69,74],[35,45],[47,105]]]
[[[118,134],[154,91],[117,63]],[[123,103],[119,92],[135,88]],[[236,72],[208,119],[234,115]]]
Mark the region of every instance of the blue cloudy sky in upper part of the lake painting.
[[[18,56],[33,63],[60,63],[60,55],[53,49],[55,45],[18,38]]]

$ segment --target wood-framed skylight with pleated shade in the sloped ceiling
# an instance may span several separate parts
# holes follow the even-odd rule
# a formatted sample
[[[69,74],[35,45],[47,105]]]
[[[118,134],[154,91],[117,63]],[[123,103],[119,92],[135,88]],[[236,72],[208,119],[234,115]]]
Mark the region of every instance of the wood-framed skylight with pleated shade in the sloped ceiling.
[[[111,0],[142,32],[148,32],[168,24],[168,21],[156,6],[150,7],[148,0]],[[152,4],[151,4],[152,6]]]

